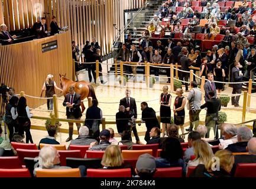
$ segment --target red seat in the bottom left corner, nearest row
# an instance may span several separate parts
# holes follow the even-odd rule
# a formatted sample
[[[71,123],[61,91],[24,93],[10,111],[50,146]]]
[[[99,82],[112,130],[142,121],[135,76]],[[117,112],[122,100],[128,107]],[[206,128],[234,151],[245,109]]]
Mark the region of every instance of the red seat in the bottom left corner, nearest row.
[[[31,177],[28,169],[0,169],[0,177]]]

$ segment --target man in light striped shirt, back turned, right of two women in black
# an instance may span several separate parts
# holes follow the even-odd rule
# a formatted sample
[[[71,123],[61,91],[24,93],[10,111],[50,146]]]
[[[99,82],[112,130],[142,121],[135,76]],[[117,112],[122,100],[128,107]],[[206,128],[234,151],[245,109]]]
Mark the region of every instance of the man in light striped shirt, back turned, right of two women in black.
[[[189,124],[190,128],[186,131],[192,132],[195,125],[195,130],[199,126],[199,113],[201,112],[201,99],[202,92],[197,88],[197,83],[195,81],[190,82],[191,90],[187,96],[187,109],[189,110]]]

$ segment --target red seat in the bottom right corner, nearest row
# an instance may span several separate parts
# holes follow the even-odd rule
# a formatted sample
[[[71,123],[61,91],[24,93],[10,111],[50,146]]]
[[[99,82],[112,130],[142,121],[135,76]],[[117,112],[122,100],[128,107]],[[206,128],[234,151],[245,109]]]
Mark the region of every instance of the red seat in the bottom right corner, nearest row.
[[[235,177],[256,177],[256,164],[237,164]]]

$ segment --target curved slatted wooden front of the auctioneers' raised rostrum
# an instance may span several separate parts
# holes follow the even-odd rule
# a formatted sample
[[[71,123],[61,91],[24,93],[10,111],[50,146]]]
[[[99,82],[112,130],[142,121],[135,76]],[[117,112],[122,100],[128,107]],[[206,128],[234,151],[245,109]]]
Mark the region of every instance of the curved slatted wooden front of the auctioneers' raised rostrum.
[[[57,40],[58,47],[42,53],[41,45]],[[47,74],[53,74],[60,86],[59,74],[67,74],[72,79],[72,50],[70,31],[26,43],[0,46],[0,83],[22,90],[30,96],[40,96],[41,87]],[[34,108],[46,100],[27,97],[28,106]],[[1,102],[0,102],[1,103]]]

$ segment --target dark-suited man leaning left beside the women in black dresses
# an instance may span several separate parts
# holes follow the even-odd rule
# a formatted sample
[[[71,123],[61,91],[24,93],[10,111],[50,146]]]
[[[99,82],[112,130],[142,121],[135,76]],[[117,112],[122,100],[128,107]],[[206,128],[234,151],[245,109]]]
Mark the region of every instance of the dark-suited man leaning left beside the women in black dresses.
[[[145,141],[150,140],[150,131],[152,128],[157,127],[160,129],[157,116],[155,115],[155,110],[152,107],[148,107],[147,102],[141,103],[142,116],[141,119],[145,122],[147,131],[145,133]]]

